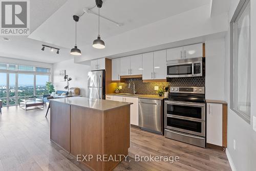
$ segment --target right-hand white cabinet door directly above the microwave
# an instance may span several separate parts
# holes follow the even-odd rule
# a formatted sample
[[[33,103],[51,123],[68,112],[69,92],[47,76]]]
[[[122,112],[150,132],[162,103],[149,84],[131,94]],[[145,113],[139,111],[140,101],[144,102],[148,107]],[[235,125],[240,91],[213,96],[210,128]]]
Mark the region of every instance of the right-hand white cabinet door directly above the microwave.
[[[203,44],[195,44],[183,47],[183,58],[203,57]]]

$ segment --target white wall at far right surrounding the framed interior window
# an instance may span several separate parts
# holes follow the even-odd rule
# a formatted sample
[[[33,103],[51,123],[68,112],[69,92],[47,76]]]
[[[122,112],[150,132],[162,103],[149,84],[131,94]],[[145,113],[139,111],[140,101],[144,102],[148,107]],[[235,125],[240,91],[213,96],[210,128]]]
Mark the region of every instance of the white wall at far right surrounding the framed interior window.
[[[237,8],[239,0],[231,1],[229,21]],[[252,129],[252,116],[256,116],[256,2],[251,0],[251,123],[248,124],[230,110],[230,31],[225,38],[225,100],[228,102],[227,153],[233,170],[255,170],[256,132]],[[236,150],[233,149],[236,140]],[[233,164],[233,165],[232,165]]]

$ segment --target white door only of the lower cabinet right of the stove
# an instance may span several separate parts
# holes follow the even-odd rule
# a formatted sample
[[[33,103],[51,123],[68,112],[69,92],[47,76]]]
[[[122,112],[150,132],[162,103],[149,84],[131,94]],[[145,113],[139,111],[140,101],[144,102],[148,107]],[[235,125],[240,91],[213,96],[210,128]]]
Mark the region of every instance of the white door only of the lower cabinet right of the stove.
[[[222,105],[207,103],[207,133],[206,142],[214,145],[222,145]]]

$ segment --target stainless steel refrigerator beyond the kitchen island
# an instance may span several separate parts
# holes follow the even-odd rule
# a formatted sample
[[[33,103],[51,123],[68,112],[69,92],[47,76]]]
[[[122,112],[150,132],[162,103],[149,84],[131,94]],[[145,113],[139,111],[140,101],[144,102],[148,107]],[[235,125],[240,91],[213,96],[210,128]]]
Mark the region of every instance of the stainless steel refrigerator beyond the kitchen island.
[[[105,99],[105,70],[88,72],[88,98]]]

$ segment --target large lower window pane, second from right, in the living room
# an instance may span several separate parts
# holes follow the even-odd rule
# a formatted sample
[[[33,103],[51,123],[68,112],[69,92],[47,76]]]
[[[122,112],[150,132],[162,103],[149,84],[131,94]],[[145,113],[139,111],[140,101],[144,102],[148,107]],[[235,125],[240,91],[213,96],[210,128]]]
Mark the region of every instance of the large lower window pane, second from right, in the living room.
[[[18,96],[34,96],[34,75],[18,74]]]

